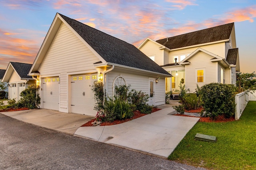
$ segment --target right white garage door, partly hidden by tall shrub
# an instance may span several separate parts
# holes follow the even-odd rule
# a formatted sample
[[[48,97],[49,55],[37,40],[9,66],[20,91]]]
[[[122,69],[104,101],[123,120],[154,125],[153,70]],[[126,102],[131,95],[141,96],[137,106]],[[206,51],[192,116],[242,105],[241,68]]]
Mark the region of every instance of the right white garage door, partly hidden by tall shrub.
[[[96,116],[94,94],[91,86],[97,81],[97,74],[71,76],[71,107],[72,113]]]

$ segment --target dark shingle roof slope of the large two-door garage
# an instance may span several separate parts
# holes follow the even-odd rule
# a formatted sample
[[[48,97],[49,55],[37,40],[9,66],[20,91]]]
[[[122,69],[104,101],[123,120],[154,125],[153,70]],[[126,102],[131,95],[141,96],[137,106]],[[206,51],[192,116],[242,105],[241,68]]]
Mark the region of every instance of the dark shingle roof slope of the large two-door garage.
[[[170,75],[148,58],[134,45],[94,29],[79,21],[60,16],[86,41],[107,63],[120,64],[142,70]]]

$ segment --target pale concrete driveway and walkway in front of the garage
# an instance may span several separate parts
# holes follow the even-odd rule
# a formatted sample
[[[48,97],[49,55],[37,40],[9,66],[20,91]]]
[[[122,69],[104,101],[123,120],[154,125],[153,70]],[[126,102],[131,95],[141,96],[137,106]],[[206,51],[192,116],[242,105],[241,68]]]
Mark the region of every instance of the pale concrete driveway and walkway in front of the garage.
[[[199,120],[170,115],[168,105],[143,117],[118,125],[80,127],[94,117],[48,109],[2,112],[15,119],[63,133],[167,158]]]

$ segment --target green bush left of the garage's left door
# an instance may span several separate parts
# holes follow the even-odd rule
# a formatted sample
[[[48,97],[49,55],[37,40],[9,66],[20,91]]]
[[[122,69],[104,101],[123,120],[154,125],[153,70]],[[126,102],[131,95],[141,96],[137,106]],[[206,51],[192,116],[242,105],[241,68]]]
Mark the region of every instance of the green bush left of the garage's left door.
[[[36,84],[28,86],[25,90],[20,93],[20,101],[18,107],[28,107],[29,109],[35,109],[39,107],[40,96],[37,93],[39,86]]]

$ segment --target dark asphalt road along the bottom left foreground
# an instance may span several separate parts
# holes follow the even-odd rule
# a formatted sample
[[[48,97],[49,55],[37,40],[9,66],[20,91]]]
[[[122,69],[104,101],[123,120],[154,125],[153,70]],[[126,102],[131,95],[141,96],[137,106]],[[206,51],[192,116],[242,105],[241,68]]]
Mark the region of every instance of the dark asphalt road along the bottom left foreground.
[[[1,170],[201,170],[0,114]]]

